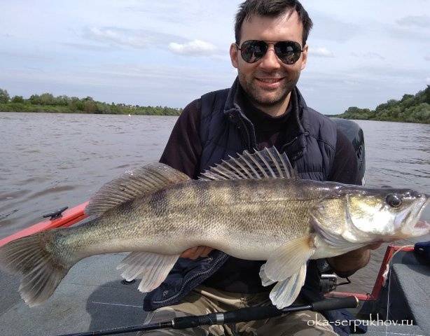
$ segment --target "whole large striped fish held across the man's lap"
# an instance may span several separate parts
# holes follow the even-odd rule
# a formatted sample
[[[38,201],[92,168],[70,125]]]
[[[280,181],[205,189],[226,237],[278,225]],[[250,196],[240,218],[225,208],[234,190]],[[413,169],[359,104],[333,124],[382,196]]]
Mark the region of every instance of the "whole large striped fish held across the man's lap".
[[[130,251],[118,266],[139,290],[160,286],[179,255],[211,246],[248,260],[267,260],[270,299],[291,304],[303,286],[307,260],[328,258],[375,241],[426,235],[418,221],[429,196],[407,189],[363,188],[298,179],[275,148],[244,152],[191,180],[160,163],[107,183],[83,225],[40,232],[0,248],[0,264],[23,275],[30,306],[53,294],[79,260]]]

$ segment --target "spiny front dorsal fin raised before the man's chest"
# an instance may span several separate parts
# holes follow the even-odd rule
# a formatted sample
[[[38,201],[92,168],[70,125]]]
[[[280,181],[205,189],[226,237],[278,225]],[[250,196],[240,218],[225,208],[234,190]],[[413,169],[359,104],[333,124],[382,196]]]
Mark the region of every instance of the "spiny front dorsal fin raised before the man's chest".
[[[298,174],[286,156],[275,147],[249,153],[244,151],[237,158],[223,160],[210,167],[199,178],[204,181],[243,179],[298,179]]]

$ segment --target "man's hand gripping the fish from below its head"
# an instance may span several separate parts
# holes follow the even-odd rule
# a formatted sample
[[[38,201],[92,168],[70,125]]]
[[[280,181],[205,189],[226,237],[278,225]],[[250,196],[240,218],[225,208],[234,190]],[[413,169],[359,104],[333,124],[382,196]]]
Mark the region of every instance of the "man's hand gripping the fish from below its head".
[[[370,260],[370,250],[379,248],[381,244],[382,243],[369,244],[357,250],[333,258],[327,258],[328,265],[333,268],[336,274],[340,276],[350,276],[368,264]]]

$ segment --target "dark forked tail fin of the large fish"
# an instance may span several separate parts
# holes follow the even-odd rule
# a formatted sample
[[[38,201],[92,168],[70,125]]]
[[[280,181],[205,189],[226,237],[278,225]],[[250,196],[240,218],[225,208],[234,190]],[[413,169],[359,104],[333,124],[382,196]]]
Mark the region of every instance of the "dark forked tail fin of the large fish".
[[[30,307],[48,300],[70,268],[60,265],[46,248],[50,237],[50,232],[41,232],[0,247],[0,266],[22,274],[19,291]]]

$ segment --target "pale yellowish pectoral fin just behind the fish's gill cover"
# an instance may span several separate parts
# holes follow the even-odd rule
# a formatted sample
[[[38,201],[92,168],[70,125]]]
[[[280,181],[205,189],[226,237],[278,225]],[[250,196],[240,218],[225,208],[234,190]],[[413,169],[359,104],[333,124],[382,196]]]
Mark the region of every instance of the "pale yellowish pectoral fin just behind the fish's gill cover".
[[[279,247],[264,266],[264,274],[272,281],[284,281],[296,274],[314,254],[314,237],[293,239]],[[263,267],[262,267],[263,268]],[[268,282],[268,281],[265,281]]]

